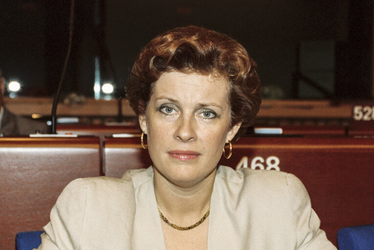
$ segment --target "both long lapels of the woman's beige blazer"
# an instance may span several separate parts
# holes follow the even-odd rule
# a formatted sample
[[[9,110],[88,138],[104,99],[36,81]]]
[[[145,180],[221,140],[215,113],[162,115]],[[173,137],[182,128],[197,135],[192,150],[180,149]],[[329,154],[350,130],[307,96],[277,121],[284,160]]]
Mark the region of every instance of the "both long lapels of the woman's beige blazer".
[[[230,170],[232,169],[229,167],[219,166],[215,177],[210,203],[208,250],[241,249],[239,246],[239,248],[236,248],[238,240],[240,241],[238,237],[241,236],[239,232],[236,233],[238,228],[231,217],[231,213],[235,213],[235,208],[226,204],[226,202],[230,202],[226,197],[229,194],[222,190],[227,186],[226,177],[228,177],[227,174]],[[154,195],[153,175],[154,169],[152,166],[147,169],[136,170],[132,174],[136,204],[132,233],[133,250],[166,250]],[[233,232],[232,235],[228,235],[230,231]]]

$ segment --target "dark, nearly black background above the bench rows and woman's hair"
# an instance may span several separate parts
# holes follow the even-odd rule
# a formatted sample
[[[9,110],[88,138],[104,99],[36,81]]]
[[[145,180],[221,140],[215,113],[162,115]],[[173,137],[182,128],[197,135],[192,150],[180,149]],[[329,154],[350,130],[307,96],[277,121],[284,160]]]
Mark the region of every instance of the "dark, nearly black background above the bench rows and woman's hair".
[[[21,95],[54,95],[69,15],[70,0],[1,2],[0,66],[7,81],[21,81]],[[62,92],[93,96],[95,58],[101,82],[122,91],[140,49],[156,34],[189,24],[242,43],[259,65],[264,98],[326,98],[304,81],[292,92],[300,69],[333,98],[372,99],[372,0],[76,1]]]

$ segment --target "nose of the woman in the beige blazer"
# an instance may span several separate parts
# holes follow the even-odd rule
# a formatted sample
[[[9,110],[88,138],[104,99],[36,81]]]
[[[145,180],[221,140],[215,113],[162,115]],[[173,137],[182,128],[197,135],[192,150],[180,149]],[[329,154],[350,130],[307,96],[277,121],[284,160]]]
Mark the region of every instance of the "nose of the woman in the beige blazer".
[[[188,115],[181,115],[177,119],[175,138],[182,142],[195,141],[197,139],[196,121]]]

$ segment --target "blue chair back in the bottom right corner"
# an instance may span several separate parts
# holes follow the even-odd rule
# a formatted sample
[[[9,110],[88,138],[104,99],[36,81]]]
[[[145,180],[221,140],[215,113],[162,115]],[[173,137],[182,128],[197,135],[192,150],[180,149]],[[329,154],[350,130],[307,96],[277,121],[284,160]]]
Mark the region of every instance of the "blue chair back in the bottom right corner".
[[[339,250],[374,250],[374,224],[338,230]]]

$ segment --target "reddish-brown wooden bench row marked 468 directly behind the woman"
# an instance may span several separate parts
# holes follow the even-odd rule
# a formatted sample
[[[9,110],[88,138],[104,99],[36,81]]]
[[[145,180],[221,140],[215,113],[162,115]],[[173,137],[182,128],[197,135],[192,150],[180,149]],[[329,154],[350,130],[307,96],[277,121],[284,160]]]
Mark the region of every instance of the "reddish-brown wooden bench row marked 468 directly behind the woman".
[[[308,189],[321,228],[336,245],[338,229],[374,223],[374,138],[247,137],[220,164],[295,174]],[[0,249],[18,231],[41,230],[73,179],[121,177],[152,164],[139,137],[0,138]]]

